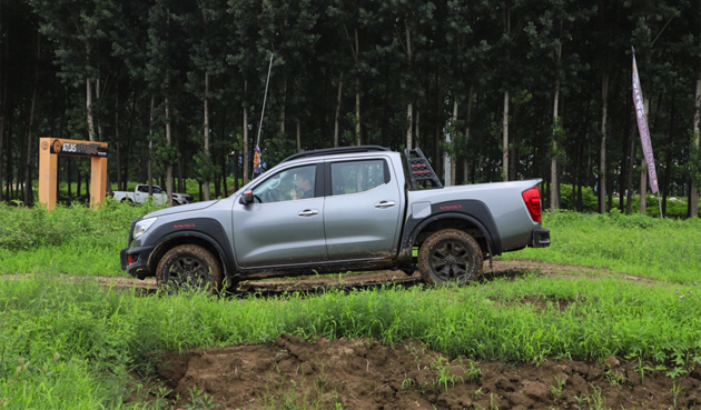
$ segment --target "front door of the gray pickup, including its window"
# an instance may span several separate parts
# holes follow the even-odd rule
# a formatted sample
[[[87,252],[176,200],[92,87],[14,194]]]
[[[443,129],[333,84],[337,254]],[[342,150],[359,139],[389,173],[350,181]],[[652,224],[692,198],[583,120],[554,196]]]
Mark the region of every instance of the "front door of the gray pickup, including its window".
[[[253,189],[254,203],[235,201],[234,247],[241,267],[327,259],[320,177],[316,164],[288,168]]]

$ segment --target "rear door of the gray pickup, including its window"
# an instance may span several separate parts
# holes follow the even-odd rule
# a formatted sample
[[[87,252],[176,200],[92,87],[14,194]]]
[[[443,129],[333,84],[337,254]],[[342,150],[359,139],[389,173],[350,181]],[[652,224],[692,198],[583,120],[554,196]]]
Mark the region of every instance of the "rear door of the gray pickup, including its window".
[[[402,192],[388,161],[386,157],[326,161],[324,228],[329,260],[387,258],[395,252]]]

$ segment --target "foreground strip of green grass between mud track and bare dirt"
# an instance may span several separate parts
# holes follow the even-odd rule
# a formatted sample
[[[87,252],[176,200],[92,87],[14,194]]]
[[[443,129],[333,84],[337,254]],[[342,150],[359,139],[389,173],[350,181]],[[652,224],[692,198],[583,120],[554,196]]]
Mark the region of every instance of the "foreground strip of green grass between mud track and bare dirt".
[[[478,360],[613,354],[683,367],[701,361],[698,289],[530,276],[466,288],[227,300],[0,279],[0,400],[11,408],[122,406],[127,372],[151,371],[165,350],[265,343],[284,332],[387,344],[417,339]]]

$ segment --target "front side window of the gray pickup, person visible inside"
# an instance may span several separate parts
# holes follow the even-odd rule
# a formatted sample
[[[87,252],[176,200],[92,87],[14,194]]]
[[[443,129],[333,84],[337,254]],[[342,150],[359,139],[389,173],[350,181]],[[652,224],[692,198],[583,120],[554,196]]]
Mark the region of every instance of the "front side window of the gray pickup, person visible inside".
[[[273,203],[314,198],[316,166],[286,169],[254,188],[254,202]]]

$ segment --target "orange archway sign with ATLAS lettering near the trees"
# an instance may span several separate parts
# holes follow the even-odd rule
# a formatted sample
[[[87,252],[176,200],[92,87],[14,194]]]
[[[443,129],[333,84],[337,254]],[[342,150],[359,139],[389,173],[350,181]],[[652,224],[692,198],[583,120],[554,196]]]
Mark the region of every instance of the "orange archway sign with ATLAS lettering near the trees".
[[[107,142],[39,139],[39,202],[48,210],[56,207],[58,193],[57,156],[90,157],[90,208],[105,202],[107,192]]]

